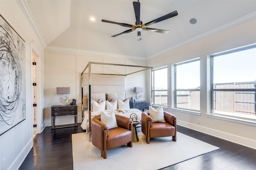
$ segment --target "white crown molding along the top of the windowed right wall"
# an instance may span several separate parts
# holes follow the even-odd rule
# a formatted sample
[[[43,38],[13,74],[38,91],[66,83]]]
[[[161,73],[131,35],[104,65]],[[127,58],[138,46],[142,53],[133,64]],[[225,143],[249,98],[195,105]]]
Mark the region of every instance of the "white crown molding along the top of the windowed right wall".
[[[239,24],[241,24],[241,23],[244,23],[244,22],[246,22],[246,21],[250,21],[250,20],[252,20],[252,19],[254,19],[254,18],[256,18],[256,12],[253,12],[253,13],[251,13],[251,14],[248,14],[247,16],[244,16],[244,17],[242,17],[242,18],[239,18],[239,19],[237,19],[237,20],[234,20],[234,21],[232,21],[232,22],[230,22],[230,23],[226,23],[225,25],[222,25],[222,26],[220,26],[220,27],[217,27],[217,28],[215,28],[215,29],[212,29],[211,31],[205,32],[205,33],[203,33],[203,34],[201,34],[201,35],[198,35],[198,36],[193,37],[193,38],[191,38],[191,39],[188,39],[188,40],[186,40],[186,41],[183,41],[182,43],[178,43],[178,44],[176,44],[176,45],[174,45],[174,46],[172,46],[172,47],[169,47],[168,49],[165,49],[165,50],[163,50],[163,51],[160,51],[159,53],[156,53],[156,54],[154,54],[154,55],[151,55],[151,56],[147,57],[146,60],[153,59],[154,57],[157,57],[157,56],[159,56],[159,55],[162,55],[162,54],[164,54],[164,53],[167,53],[168,51],[172,51],[172,50],[177,49],[177,48],[179,48],[179,47],[182,47],[182,46],[184,46],[184,45],[190,44],[190,43],[192,43],[192,42],[194,42],[194,41],[198,41],[198,40],[200,40],[200,39],[206,38],[206,37],[208,37],[208,36],[210,36],[210,35],[213,35],[213,34],[215,34],[215,33],[224,31],[225,29],[234,27],[234,26],[239,25]]]

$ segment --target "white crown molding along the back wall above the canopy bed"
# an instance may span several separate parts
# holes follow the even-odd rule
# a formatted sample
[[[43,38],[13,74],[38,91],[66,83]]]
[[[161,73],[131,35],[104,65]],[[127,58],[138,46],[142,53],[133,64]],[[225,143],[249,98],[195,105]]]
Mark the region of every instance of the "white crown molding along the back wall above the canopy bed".
[[[113,54],[113,53],[102,53],[97,51],[86,51],[86,50],[70,49],[70,48],[63,48],[63,47],[47,46],[45,47],[45,49],[50,51],[62,51],[66,53],[76,53],[76,54],[89,55],[89,56],[95,55],[97,57],[119,57],[119,58],[129,58],[129,59],[136,59],[136,60],[146,60],[146,57],[119,55],[119,54]]]

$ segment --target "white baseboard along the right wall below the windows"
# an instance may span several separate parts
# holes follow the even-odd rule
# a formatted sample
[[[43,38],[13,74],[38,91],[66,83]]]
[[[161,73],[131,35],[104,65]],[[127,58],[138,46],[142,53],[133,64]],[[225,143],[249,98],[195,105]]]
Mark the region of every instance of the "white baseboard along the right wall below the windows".
[[[207,135],[218,137],[220,139],[224,139],[224,140],[230,141],[232,143],[243,145],[245,147],[256,149],[256,141],[252,140],[252,139],[248,139],[248,138],[245,138],[245,137],[240,137],[238,135],[234,135],[234,134],[231,134],[231,133],[226,133],[226,132],[223,132],[223,131],[210,129],[208,127],[203,127],[203,126],[195,125],[195,124],[188,123],[188,122],[185,122],[185,121],[180,121],[180,120],[177,120],[177,125],[180,125],[182,127],[186,127],[186,128],[198,131],[198,132],[202,132],[202,133],[205,133]]]

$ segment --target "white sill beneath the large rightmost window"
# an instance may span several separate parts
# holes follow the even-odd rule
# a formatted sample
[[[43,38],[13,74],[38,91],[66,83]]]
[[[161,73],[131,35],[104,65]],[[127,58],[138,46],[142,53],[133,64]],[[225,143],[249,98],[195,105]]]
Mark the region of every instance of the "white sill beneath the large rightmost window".
[[[213,119],[219,119],[224,121],[230,121],[234,123],[240,123],[244,125],[256,126],[256,119],[248,119],[248,117],[237,117],[231,114],[224,114],[224,113],[216,113],[215,114],[206,114],[206,117],[210,117]]]

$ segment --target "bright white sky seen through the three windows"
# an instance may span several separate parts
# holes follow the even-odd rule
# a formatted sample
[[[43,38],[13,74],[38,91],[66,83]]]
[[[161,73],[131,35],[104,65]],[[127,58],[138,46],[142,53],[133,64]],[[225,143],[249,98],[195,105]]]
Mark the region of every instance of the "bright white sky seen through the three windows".
[[[166,69],[155,72],[155,85],[167,89]],[[200,61],[177,65],[177,89],[200,87]],[[214,84],[256,81],[256,48],[214,57]]]

